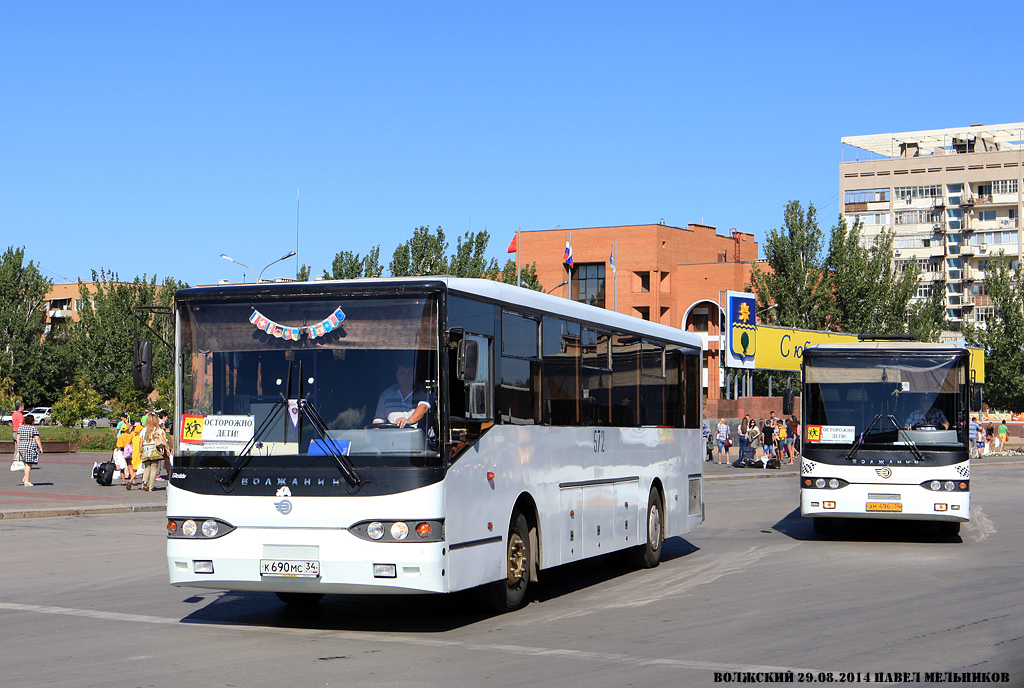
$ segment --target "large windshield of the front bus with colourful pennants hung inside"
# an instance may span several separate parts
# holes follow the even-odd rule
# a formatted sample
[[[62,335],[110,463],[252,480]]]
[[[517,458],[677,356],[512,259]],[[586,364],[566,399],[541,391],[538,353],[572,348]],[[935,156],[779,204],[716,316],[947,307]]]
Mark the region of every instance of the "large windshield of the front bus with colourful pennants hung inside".
[[[437,300],[182,302],[175,465],[439,466]]]

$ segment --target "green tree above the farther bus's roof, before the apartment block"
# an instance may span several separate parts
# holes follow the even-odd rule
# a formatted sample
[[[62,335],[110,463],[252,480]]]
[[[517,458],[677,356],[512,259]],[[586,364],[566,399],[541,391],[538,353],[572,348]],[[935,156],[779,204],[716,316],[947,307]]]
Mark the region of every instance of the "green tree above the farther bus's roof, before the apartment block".
[[[831,229],[822,283],[833,297],[826,327],[848,333],[903,334],[918,290],[918,266],[895,268],[893,232],[883,230],[865,247],[860,229],[860,220],[848,228],[842,215]]]

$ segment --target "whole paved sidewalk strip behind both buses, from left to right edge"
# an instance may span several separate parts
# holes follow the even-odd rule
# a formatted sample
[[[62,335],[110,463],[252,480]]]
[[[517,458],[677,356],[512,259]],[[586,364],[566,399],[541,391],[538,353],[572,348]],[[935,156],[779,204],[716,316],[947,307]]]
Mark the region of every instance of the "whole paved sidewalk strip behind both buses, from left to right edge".
[[[1024,442],[1009,442],[1020,447]],[[160,512],[167,508],[166,482],[158,481],[156,491],[145,492],[138,487],[127,490],[121,478],[115,476],[109,487],[92,479],[92,464],[105,461],[106,453],[82,451],[79,454],[44,454],[39,467],[32,471],[34,487],[22,485],[20,471],[6,470],[11,455],[0,455],[0,519],[42,518],[46,516],[82,516],[86,514],[118,514],[131,512]],[[736,461],[736,451],[732,451]],[[972,461],[972,468],[987,466],[1024,465],[1024,455],[1009,457],[980,457]],[[706,480],[741,480],[746,478],[790,478],[800,475],[800,460],[781,469],[735,468],[719,465],[714,461],[703,465]]]

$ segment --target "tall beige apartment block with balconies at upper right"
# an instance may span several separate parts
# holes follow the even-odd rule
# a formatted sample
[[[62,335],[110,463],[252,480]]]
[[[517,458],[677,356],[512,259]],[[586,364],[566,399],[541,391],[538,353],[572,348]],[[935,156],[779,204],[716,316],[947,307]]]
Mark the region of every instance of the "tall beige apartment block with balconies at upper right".
[[[916,263],[915,298],[945,285],[946,319],[991,317],[985,269],[1004,252],[1020,266],[1024,123],[842,138],[840,195],[862,239],[895,230],[897,267]],[[851,160],[852,158],[852,160]]]

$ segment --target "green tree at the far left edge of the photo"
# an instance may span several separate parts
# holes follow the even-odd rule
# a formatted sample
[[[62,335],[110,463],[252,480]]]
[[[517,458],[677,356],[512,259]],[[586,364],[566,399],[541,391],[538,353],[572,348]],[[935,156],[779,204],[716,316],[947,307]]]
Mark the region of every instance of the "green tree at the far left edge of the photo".
[[[25,248],[8,247],[0,258],[0,377],[15,382],[13,393],[44,400],[44,388],[35,371],[42,360],[43,315],[52,282],[33,262],[25,262]]]

